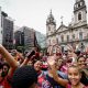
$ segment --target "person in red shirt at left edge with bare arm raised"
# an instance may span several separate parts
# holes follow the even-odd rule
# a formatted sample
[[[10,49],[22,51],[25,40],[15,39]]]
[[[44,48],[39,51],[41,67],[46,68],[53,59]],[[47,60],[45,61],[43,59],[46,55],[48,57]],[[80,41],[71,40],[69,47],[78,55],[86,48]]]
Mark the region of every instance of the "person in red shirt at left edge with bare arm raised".
[[[10,65],[7,74],[4,69],[7,66],[0,65],[0,88],[11,88],[10,79],[14,70],[18,68],[18,63],[14,57],[0,44],[0,54],[6,58],[4,61]]]

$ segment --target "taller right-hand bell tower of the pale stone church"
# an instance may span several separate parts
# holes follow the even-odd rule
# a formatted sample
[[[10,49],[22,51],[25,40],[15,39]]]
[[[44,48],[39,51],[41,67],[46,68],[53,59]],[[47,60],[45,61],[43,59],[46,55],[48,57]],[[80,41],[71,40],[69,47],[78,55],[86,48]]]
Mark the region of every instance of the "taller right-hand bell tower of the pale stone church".
[[[85,0],[76,0],[74,4],[74,25],[87,25],[87,7]]]

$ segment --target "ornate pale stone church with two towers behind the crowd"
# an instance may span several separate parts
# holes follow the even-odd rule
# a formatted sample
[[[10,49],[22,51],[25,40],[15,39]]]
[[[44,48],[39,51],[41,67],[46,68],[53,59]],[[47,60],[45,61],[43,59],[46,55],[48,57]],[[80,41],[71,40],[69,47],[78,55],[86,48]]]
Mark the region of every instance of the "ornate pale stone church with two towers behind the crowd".
[[[74,18],[68,26],[61,23],[56,29],[56,22],[52,12],[46,20],[47,52],[51,45],[61,45],[62,51],[70,44],[74,48],[84,51],[88,46],[87,7],[85,0],[76,0],[74,4]],[[55,52],[54,47],[54,52]]]

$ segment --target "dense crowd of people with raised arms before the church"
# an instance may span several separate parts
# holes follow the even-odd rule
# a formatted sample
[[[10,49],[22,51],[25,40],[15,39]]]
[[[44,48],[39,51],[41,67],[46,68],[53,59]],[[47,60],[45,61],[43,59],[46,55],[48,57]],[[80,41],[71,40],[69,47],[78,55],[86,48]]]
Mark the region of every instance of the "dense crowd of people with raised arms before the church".
[[[0,44],[0,88],[88,88],[88,48],[42,54],[35,47],[23,56]]]

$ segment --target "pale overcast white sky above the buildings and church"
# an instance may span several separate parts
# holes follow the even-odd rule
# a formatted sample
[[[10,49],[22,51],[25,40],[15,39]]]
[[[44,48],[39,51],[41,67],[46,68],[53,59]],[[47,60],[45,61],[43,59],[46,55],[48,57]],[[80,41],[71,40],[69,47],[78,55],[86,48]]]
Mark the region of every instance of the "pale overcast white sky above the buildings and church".
[[[85,1],[88,4],[88,0]],[[74,3],[75,0],[0,0],[2,11],[14,20],[14,25],[25,25],[43,34],[46,34],[46,19],[51,9],[56,20],[56,28],[61,25],[61,16],[64,16],[63,23],[68,25],[72,21]]]

